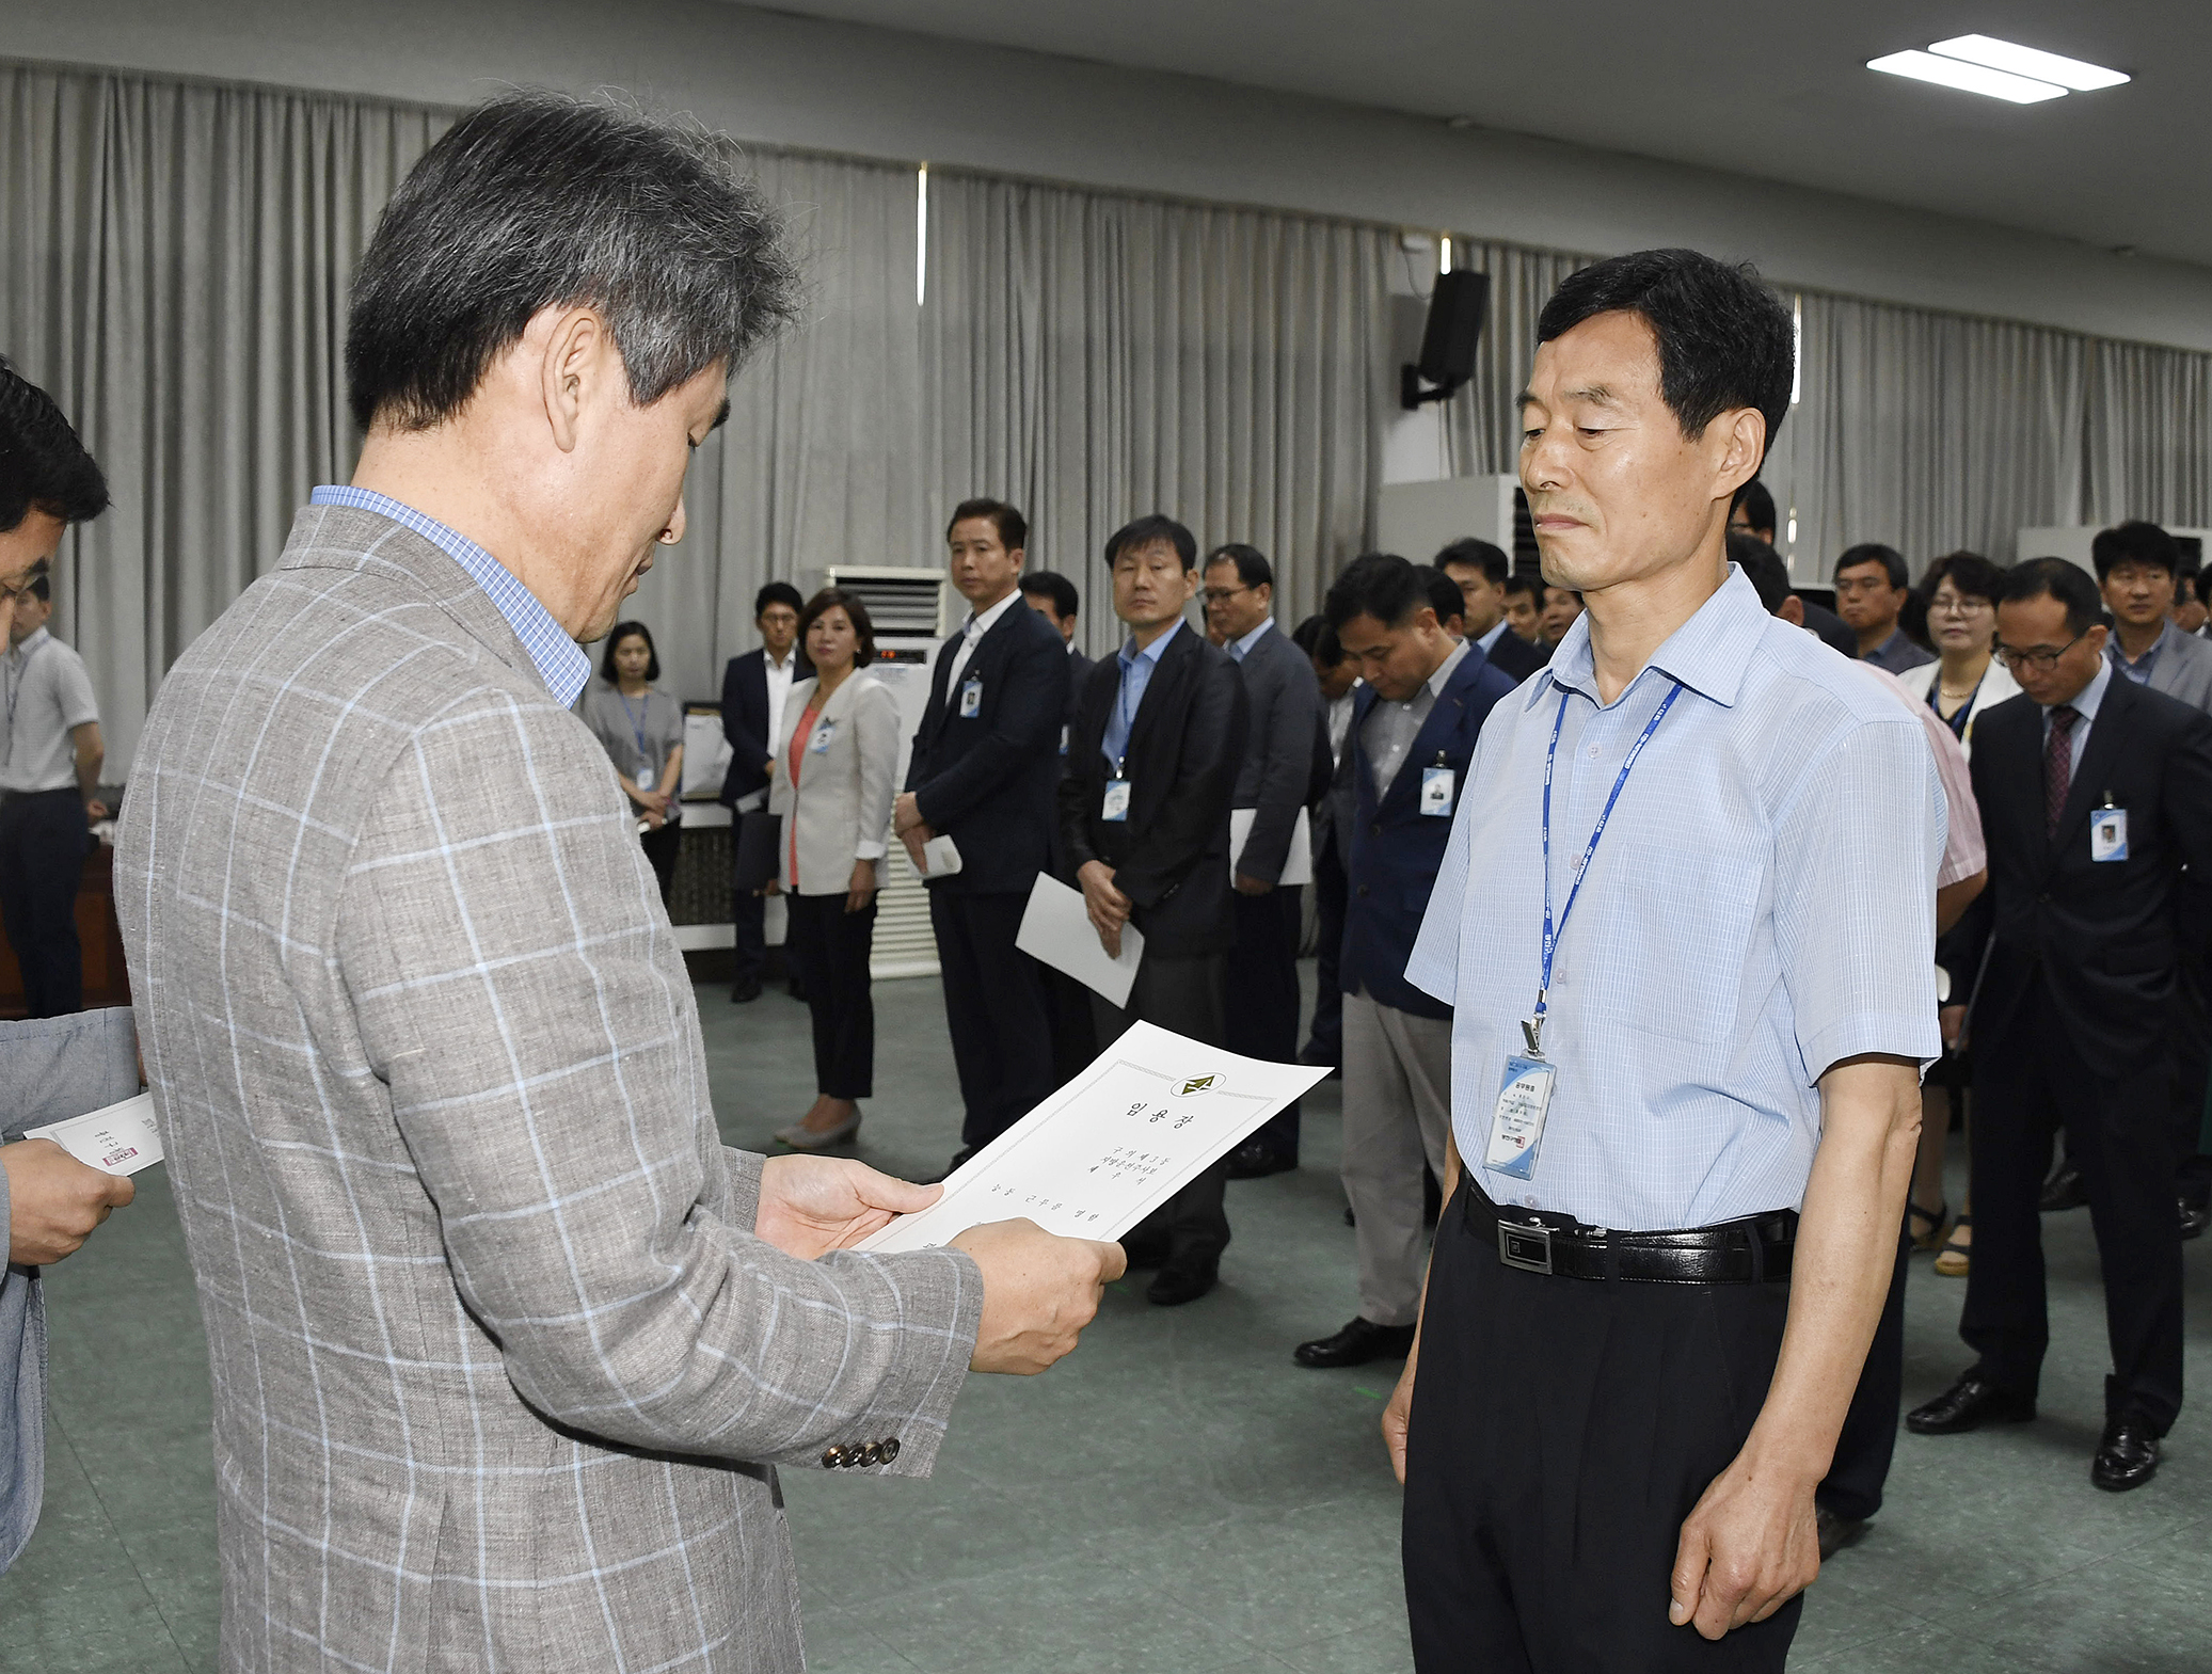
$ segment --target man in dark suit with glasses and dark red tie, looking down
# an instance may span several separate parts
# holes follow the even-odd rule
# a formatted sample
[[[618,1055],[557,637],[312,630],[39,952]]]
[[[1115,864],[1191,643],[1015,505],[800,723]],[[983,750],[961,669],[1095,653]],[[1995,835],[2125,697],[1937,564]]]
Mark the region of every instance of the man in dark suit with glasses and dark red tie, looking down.
[[[2048,1345],[2037,1194],[2051,1137],[2088,1188],[2112,1373],[2090,1482],[2150,1482],[2181,1411],[2172,1037],[2212,878],[2212,719],[2119,677],[2097,588],[2020,564],[1997,655],[2022,694],[1982,714],[1973,794],[1989,840],[1989,958],[1973,1028],[1973,1267],[1960,1336],[1980,1356],[1907,1415],[1920,1435],[2035,1417]],[[2188,867],[2188,878],[2183,876]]]

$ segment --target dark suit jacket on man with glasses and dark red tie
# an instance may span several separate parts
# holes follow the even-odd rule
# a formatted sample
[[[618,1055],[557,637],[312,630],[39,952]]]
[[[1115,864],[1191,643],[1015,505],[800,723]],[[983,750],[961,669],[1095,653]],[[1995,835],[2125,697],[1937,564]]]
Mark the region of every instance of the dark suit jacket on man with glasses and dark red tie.
[[[2161,1055],[2185,942],[2203,933],[2181,867],[2212,880],[2212,716],[2124,674],[2106,683],[2055,838],[2044,836],[2044,712],[2028,697],[1982,712],[1973,794],[1989,843],[1989,964],[1975,1044],[2035,1028],[2037,973],[2084,1059],[2119,1077]],[[2128,809],[2128,858],[2090,860],[2106,796]],[[1978,902],[1980,904],[1980,902]]]

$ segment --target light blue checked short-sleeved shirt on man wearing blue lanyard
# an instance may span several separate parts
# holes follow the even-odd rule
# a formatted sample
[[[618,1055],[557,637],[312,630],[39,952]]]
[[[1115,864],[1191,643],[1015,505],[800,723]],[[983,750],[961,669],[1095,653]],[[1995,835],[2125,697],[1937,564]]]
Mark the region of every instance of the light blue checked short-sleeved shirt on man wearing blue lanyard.
[[[1544,756],[1559,694],[1553,907],[1630,745],[1659,723],[1590,860],[1551,977],[1557,1068],[1528,1181],[1482,1168],[1542,971]],[[1942,783],[1920,721],[1730,571],[1610,705],[1588,617],[1482,730],[1407,977],[1451,1004],[1451,1126],[1493,1201],[1597,1227],[1798,1207],[1816,1081],[1860,1053],[1933,1059]]]

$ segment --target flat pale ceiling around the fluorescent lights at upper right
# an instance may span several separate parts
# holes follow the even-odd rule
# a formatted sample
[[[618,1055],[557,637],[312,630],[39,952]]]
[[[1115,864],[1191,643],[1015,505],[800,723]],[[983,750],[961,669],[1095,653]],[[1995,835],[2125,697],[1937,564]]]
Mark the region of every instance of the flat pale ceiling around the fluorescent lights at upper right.
[[[2205,0],[776,0],[2212,263]],[[1984,33],[2135,82],[2013,106],[1865,69]],[[1188,97],[1188,84],[1164,84]],[[945,88],[989,100],[989,82]]]

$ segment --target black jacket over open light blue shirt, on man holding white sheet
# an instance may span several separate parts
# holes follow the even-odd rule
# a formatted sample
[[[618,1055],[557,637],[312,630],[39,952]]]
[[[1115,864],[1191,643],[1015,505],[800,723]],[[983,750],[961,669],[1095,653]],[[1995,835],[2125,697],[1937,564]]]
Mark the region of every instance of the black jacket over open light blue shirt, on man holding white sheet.
[[[1230,891],[1230,794],[1245,752],[1248,699],[1237,663],[1186,621],[1159,655],[1128,732],[1128,820],[1102,820],[1106,716],[1121,661],[1102,657],[1084,686],[1060,781],[1068,867],[1104,860],[1130,898],[1146,953],[1188,960],[1237,942]]]

